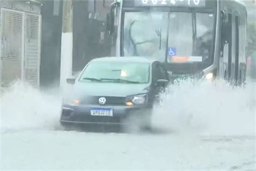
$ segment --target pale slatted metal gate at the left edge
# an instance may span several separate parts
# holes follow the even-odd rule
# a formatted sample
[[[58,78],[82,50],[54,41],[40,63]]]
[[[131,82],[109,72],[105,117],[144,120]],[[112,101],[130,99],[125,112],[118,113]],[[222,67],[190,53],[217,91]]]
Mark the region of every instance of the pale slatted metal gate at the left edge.
[[[41,15],[0,8],[0,87],[16,80],[39,87]]]

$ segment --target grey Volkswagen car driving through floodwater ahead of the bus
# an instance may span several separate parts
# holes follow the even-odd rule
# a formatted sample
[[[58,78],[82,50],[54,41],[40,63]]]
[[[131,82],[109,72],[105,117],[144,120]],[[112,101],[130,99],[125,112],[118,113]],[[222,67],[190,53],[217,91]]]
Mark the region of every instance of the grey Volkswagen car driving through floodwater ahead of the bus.
[[[144,57],[91,60],[73,85],[72,99],[63,102],[60,123],[70,125],[136,125],[150,128],[152,107],[169,83],[159,61]]]

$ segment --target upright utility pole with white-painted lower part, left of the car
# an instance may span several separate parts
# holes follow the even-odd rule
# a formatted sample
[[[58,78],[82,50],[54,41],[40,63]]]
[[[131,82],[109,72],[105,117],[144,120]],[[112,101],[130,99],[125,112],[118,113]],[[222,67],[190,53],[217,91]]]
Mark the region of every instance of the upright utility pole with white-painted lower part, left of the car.
[[[73,3],[72,0],[63,1],[62,18],[62,47],[60,59],[60,90],[66,85],[66,79],[72,77],[73,53]]]

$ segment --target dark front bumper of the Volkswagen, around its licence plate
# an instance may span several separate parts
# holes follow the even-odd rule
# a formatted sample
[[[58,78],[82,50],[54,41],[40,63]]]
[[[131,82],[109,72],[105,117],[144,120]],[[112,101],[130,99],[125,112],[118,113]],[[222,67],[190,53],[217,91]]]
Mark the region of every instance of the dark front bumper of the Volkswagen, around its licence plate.
[[[112,116],[91,115],[93,108],[111,108]],[[63,105],[61,124],[106,124],[131,125],[133,122],[150,119],[151,112],[145,106],[100,106],[100,105]],[[132,119],[131,119],[132,118]]]

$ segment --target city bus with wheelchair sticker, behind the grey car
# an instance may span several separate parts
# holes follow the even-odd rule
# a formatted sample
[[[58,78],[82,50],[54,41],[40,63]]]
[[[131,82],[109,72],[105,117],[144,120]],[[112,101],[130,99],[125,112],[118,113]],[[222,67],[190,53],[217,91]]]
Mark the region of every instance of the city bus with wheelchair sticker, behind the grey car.
[[[219,0],[123,0],[111,5],[112,55],[161,61],[170,77],[246,80],[246,6]]]

